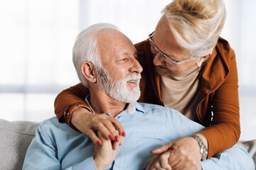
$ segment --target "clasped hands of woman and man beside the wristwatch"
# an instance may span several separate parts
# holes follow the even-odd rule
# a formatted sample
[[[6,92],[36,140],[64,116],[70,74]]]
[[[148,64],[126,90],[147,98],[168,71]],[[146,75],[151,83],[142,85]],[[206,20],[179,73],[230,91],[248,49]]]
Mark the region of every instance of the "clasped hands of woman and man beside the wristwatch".
[[[156,155],[147,169],[201,169],[201,154],[198,142],[193,137],[183,137],[151,151]]]

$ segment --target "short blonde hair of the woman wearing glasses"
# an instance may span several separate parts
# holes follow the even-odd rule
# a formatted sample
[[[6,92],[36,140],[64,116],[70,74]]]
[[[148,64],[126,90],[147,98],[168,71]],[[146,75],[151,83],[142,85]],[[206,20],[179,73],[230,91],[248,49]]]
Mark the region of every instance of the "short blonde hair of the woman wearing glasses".
[[[174,38],[191,57],[213,52],[226,18],[223,0],[174,0],[163,13]]]

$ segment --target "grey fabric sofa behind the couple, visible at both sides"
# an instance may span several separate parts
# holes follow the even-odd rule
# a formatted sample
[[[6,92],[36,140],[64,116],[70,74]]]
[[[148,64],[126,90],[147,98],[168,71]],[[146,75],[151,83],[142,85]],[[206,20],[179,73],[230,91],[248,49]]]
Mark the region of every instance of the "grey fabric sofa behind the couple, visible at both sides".
[[[23,160],[38,123],[0,119],[0,169],[22,169]],[[256,140],[240,141],[250,153],[256,166]]]

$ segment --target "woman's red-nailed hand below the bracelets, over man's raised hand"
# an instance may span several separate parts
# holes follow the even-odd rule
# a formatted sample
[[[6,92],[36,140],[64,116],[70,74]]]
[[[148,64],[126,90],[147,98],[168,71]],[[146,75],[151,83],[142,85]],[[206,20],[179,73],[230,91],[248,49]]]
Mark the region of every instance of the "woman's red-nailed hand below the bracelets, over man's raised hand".
[[[102,145],[102,140],[97,137],[95,131],[101,132],[105,139],[119,142],[119,145],[122,145],[122,139],[125,137],[124,128],[117,119],[105,114],[93,114],[86,108],[75,108],[71,123],[90,137],[95,145]]]

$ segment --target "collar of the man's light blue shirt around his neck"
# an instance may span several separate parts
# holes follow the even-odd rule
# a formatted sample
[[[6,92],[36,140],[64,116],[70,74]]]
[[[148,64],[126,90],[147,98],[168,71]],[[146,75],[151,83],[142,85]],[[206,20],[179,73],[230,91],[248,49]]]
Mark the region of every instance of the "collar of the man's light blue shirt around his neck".
[[[85,103],[87,104],[87,106],[89,106],[92,109],[92,106],[90,105],[89,101],[90,101],[90,94],[85,97]],[[136,112],[136,110],[141,111],[142,113],[145,113],[144,108],[137,101],[134,103],[129,103],[127,108],[124,111],[129,113],[129,115],[132,115],[133,113]],[[124,113],[124,111],[122,111],[121,113]],[[93,109],[92,109],[92,113],[95,113],[95,111],[93,111]],[[119,114],[121,114],[121,113],[119,113]],[[108,113],[105,113],[105,114],[110,115]]]

